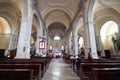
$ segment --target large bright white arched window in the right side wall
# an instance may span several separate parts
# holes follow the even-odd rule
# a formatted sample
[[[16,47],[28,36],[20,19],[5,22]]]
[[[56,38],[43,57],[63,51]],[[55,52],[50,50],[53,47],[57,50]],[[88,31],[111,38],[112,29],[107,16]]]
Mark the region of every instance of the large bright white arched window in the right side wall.
[[[118,26],[114,21],[107,21],[100,30],[101,41],[104,49],[113,48],[112,36],[118,33]]]

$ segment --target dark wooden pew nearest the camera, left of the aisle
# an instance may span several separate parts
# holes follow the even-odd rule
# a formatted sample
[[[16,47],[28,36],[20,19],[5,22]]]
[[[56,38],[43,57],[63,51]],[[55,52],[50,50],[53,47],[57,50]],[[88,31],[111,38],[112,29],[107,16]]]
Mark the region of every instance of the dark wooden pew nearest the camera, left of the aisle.
[[[0,69],[0,80],[33,80],[31,69]]]

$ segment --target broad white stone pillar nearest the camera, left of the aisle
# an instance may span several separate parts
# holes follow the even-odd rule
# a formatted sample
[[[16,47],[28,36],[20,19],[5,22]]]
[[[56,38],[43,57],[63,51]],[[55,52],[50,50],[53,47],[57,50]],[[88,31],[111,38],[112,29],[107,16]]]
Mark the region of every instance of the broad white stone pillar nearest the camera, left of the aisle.
[[[33,18],[32,2],[28,3],[28,11],[25,10],[26,6],[24,5],[23,7],[17,54],[15,58],[30,58],[30,36]]]

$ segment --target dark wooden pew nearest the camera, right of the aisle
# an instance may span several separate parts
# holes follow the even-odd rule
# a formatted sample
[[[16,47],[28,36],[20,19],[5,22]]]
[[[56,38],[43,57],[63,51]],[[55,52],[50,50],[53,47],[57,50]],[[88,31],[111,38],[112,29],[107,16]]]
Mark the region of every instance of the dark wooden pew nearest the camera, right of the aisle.
[[[120,80],[120,68],[93,68],[92,80]]]

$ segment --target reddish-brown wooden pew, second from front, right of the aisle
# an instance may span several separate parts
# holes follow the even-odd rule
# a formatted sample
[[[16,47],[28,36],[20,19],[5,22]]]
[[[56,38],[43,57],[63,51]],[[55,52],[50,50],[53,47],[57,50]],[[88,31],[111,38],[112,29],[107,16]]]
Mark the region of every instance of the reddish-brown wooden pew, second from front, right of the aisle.
[[[82,80],[91,80],[92,68],[120,68],[120,63],[80,63]]]

